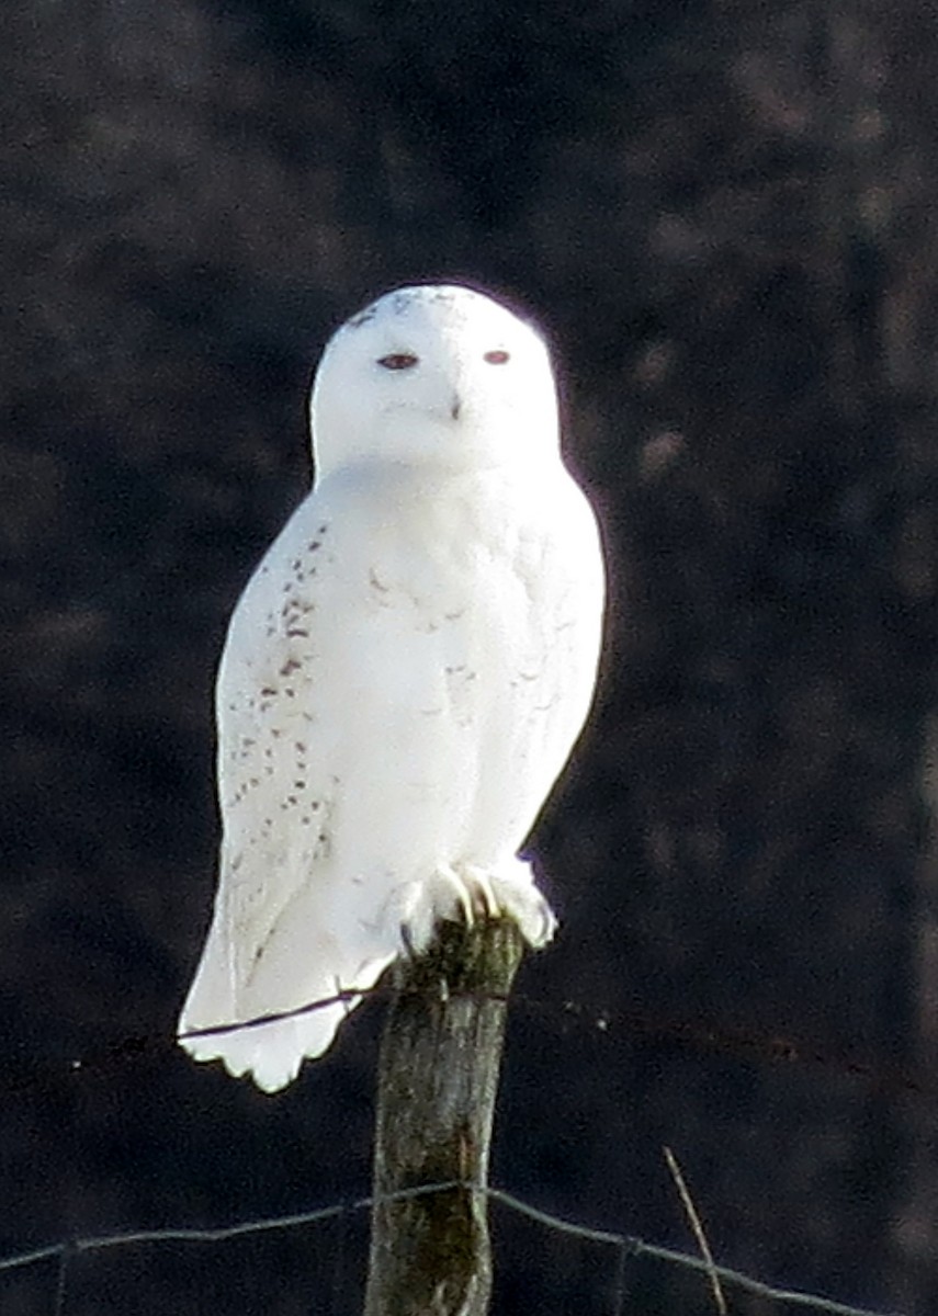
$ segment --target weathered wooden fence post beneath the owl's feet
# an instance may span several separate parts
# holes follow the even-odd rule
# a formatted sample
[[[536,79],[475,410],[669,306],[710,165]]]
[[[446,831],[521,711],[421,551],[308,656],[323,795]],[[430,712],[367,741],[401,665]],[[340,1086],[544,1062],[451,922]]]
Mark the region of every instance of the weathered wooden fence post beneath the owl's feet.
[[[487,1182],[511,982],[523,954],[505,920],[441,924],[394,969],[381,1044],[365,1316],[485,1316],[491,1292]],[[382,1203],[460,1180],[473,1187]]]

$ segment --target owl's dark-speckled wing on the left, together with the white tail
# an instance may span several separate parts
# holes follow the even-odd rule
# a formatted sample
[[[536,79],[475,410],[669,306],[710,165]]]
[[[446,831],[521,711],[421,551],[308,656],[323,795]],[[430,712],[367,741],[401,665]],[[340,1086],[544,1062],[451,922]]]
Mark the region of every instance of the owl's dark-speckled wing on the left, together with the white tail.
[[[349,592],[335,524],[312,494],[287,522],[232,616],[216,686],[223,821],[212,926],[180,1032],[292,1011],[370,987],[395,946],[349,917],[337,882],[343,650],[361,647],[368,600]],[[360,898],[362,912],[369,896]],[[261,1087],[290,1082],[327,1049],[354,998],[277,1024],[182,1038]]]

